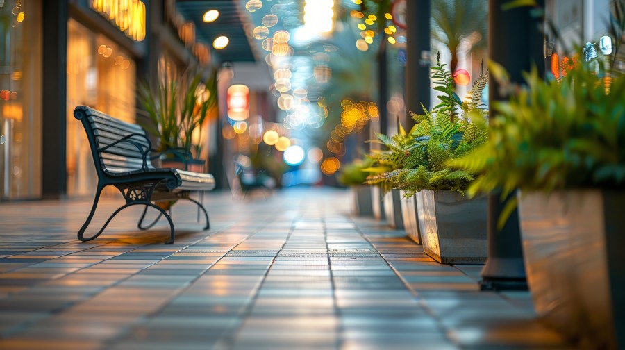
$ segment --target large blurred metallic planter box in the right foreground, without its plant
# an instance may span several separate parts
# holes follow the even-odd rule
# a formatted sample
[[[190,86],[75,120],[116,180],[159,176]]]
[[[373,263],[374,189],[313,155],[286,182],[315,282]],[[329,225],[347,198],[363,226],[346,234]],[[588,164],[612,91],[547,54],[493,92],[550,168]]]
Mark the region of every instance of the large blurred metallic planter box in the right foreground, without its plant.
[[[585,349],[625,347],[625,192],[519,194],[536,312]]]

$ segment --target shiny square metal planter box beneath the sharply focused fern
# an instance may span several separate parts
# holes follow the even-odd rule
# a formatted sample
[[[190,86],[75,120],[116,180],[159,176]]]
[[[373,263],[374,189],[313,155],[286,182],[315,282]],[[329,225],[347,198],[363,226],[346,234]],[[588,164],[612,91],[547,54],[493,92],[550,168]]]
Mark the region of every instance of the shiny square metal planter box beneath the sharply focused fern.
[[[416,194],[423,250],[439,263],[483,263],[487,256],[486,197],[467,199],[458,192]]]

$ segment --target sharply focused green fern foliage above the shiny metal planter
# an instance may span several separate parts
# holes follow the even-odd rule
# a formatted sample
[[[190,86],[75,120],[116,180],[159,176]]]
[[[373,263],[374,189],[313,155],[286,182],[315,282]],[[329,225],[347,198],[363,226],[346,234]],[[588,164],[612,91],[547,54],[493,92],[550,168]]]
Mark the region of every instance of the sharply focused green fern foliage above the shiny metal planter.
[[[469,99],[462,102],[453,92],[453,78],[437,57],[432,67],[435,90],[443,92],[440,103],[423,115],[410,112],[417,124],[410,133],[400,127],[399,134],[389,138],[378,135],[387,151],[373,153],[376,167],[369,183],[387,183],[406,191],[408,197],[419,190],[453,190],[463,192],[474,179],[465,169],[450,167],[448,160],[472,153],[487,139],[487,112],[482,108],[481,92],[488,78],[481,74],[474,83]]]

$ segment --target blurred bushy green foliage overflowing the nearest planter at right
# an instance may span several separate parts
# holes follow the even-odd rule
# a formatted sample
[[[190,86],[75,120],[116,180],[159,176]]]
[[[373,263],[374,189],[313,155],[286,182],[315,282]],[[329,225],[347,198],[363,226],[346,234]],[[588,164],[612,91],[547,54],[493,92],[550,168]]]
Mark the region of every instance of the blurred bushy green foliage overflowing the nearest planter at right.
[[[509,101],[494,103],[489,142],[447,164],[480,174],[469,194],[515,188],[625,188],[625,76],[586,65],[561,81],[536,69]]]

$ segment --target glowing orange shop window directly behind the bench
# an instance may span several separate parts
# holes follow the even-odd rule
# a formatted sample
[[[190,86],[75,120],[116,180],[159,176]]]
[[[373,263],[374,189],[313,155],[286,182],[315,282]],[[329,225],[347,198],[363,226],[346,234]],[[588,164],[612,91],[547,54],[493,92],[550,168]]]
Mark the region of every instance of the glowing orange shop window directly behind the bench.
[[[67,28],[67,194],[93,194],[97,174],[78,105],[135,122],[135,62],[115,42],[69,19]]]

